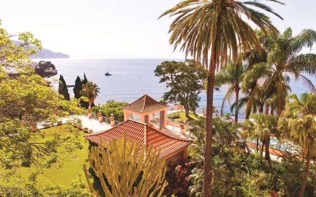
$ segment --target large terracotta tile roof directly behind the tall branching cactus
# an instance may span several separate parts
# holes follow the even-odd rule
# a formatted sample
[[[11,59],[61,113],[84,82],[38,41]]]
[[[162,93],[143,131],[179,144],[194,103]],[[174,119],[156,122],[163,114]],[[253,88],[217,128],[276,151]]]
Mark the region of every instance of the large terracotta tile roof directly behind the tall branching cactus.
[[[116,137],[122,137],[124,132],[126,132],[126,137],[136,141],[142,146],[144,142],[147,142],[147,147],[153,144],[154,148],[161,150],[160,157],[167,157],[192,142],[178,135],[160,131],[147,124],[130,119],[109,130],[85,135],[84,137],[95,143],[100,143],[100,139],[102,138],[102,142],[107,146],[111,140]]]

